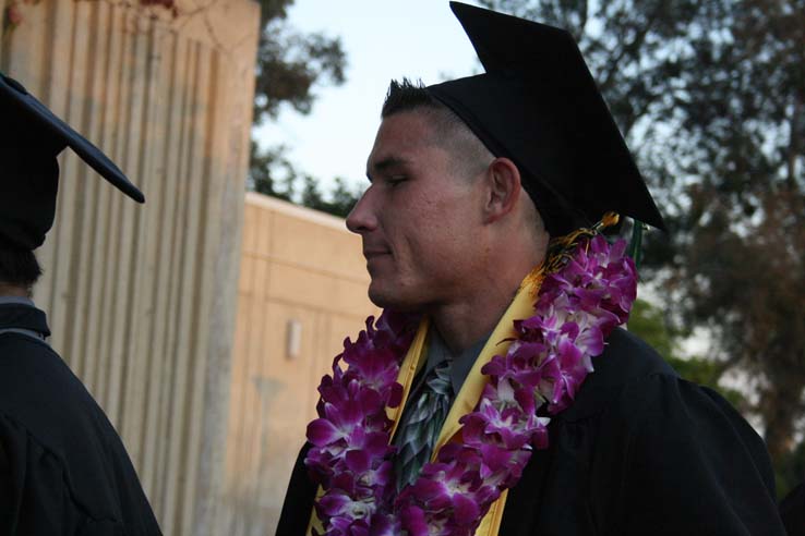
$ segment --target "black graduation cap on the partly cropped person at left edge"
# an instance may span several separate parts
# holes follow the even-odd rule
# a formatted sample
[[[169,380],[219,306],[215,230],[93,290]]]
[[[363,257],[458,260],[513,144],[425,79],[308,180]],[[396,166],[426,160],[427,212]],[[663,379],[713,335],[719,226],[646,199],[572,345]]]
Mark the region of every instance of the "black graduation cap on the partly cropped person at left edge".
[[[0,243],[35,249],[53,224],[65,147],[132,199],[142,192],[97,147],[0,72]]]

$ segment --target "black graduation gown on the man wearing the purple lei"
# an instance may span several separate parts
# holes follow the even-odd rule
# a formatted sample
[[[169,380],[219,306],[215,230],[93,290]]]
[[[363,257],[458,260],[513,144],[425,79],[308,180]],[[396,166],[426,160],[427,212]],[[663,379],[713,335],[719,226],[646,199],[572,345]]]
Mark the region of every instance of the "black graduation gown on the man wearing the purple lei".
[[[762,440],[716,392],[623,329],[593,360],[509,490],[500,535],[784,535]],[[316,487],[302,449],[277,535],[301,535]]]

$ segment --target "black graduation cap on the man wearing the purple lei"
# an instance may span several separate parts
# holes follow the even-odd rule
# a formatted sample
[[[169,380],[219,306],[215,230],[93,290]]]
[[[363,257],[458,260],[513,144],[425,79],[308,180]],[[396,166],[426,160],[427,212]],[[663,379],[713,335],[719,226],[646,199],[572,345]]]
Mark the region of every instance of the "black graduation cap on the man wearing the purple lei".
[[[665,230],[570,34],[459,2],[450,9],[486,72],[428,89],[517,165],[549,232],[589,227],[609,210]]]

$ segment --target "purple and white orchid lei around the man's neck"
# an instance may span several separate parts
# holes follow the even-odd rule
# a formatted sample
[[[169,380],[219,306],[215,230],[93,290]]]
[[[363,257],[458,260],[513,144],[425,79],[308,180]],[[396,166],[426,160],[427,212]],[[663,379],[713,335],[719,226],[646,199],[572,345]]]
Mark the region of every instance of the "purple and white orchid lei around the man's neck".
[[[482,368],[489,382],[476,410],[459,421],[460,441],[445,444],[399,495],[385,409],[401,401],[396,378],[418,317],[388,310],[376,324],[370,317],[322,379],[320,418],[308,426],[313,447],[305,464],[324,490],[315,510],[325,534],[474,534],[501,492],[519,480],[533,449],[548,447],[549,415],[573,403],[593,371],[592,357],[628,318],[637,275],[625,249],[624,241],[584,237],[544,276],[534,315],[514,322],[506,355]]]

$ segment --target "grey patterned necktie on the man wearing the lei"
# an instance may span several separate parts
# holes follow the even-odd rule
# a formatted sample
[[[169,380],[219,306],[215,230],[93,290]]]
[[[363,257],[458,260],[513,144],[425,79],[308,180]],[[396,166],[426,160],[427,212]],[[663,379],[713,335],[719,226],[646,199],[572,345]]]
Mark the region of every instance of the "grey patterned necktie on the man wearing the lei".
[[[420,389],[419,398],[406,409],[395,444],[399,449],[395,459],[397,490],[413,483],[422,466],[428,463],[433,446],[442,431],[453,398],[450,362],[445,360],[429,374]]]

